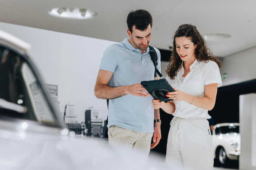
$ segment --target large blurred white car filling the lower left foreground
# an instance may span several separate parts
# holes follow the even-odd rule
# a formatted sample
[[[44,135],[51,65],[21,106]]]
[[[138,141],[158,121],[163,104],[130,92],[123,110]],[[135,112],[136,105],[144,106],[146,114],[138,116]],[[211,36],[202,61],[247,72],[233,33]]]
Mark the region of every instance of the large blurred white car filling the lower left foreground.
[[[1,170],[168,169],[156,157],[75,137],[56,114],[29,48],[0,30]]]

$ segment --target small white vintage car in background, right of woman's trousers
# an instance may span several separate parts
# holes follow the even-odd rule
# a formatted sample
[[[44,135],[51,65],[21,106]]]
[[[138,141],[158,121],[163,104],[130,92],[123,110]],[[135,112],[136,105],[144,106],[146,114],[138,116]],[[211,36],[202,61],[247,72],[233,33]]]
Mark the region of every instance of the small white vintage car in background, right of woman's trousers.
[[[216,163],[225,165],[229,160],[238,160],[241,138],[239,123],[219,123],[213,129],[213,151]]]

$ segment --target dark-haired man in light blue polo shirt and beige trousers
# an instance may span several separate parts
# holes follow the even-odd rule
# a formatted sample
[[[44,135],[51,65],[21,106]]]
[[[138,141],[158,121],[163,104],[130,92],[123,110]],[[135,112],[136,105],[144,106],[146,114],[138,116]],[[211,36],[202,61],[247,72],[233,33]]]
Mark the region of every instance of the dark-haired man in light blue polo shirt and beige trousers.
[[[153,109],[152,98],[140,84],[157,79],[148,47],[152,17],[146,10],[132,11],[127,25],[130,38],[110,45],[102,57],[94,93],[97,98],[109,99],[109,144],[121,144],[149,154],[152,136],[151,149],[161,139],[159,109]],[[155,50],[160,70],[160,52]]]

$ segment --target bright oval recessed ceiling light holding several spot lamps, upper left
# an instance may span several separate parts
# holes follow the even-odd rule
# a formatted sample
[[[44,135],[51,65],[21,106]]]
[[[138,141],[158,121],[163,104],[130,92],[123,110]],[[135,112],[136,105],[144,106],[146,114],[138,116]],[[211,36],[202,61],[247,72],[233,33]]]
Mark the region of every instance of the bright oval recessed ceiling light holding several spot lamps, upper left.
[[[97,15],[97,13],[93,10],[73,7],[53,8],[51,11],[49,11],[49,14],[60,18],[77,20],[90,19]]]

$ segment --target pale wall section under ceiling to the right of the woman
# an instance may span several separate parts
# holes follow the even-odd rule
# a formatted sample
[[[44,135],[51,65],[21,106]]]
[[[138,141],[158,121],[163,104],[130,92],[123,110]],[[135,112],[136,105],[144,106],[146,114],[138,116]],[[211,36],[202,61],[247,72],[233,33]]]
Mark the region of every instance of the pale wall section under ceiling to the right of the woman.
[[[223,86],[256,79],[256,48],[223,58],[221,62],[221,74],[227,73]]]

